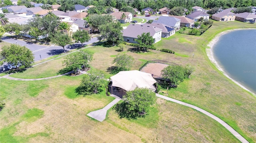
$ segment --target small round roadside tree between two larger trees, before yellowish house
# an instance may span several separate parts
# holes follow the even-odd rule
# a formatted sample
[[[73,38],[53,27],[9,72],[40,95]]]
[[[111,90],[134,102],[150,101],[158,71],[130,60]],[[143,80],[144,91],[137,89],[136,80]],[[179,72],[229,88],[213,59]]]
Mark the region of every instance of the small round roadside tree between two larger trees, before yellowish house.
[[[88,31],[85,31],[84,29],[76,31],[73,33],[72,37],[76,40],[76,42],[80,42],[82,46],[84,42],[88,42],[91,39]]]

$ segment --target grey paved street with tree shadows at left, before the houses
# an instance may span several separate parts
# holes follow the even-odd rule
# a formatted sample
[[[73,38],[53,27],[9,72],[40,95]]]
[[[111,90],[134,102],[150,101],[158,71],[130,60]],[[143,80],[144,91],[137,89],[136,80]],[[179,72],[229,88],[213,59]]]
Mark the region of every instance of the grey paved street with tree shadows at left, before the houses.
[[[8,42],[8,43],[16,43],[17,42],[17,44],[19,44],[19,45],[26,46],[34,54],[34,57],[35,57],[34,61],[39,61],[41,59],[45,59],[50,56],[58,55],[58,54],[64,52],[63,48],[60,46],[53,46],[53,45],[42,46],[42,45],[37,45],[37,44],[33,44],[33,43],[28,43],[28,42],[22,41],[22,40],[16,40],[16,39],[9,38],[9,37],[3,37],[2,40],[5,42]],[[85,42],[83,44],[88,45],[90,43],[94,43],[97,41],[98,41],[98,39],[97,39],[97,37],[95,37],[95,38],[92,38],[89,42]],[[65,50],[69,51],[71,49],[76,49],[79,47],[82,47],[81,43],[74,43],[73,45],[66,46]],[[41,55],[41,57],[40,57],[40,55]]]

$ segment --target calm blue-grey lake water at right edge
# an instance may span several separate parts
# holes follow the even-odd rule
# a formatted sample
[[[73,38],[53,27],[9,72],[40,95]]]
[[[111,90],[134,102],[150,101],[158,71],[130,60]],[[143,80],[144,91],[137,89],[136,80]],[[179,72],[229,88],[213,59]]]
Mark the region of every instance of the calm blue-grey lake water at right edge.
[[[212,50],[223,71],[256,94],[256,29],[221,35]]]

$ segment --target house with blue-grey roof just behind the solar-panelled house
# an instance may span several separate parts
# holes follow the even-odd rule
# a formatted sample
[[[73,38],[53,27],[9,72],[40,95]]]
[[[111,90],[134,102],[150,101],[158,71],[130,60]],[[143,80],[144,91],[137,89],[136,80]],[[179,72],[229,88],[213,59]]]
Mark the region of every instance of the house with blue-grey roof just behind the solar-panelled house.
[[[165,25],[168,25],[170,27],[174,27],[175,29],[180,28],[180,19],[175,18],[175,17],[160,16],[158,18],[158,20],[154,20],[153,22],[160,23],[160,24],[165,24]]]

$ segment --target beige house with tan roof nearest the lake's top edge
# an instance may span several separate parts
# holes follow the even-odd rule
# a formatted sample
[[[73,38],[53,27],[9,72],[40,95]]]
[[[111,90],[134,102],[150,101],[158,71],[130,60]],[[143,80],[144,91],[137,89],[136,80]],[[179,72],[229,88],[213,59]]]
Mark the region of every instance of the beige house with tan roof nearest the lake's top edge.
[[[233,12],[230,12],[233,9],[234,8],[228,8],[228,9],[223,10],[222,12],[219,12],[217,14],[212,14],[212,20],[222,21],[222,22],[235,21],[236,14],[234,14]]]

